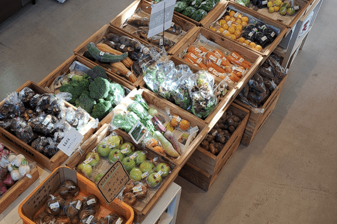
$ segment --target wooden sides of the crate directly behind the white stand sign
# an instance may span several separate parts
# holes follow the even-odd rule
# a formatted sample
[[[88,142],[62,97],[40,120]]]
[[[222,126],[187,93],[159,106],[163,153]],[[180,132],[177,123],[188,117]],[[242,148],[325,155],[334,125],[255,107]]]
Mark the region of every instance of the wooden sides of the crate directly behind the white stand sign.
[[[131,5],[126,8],[123,12],[121,12],[118,16],[116,16],[114,19],[110,21],[110,24],[115,27],[119,27],[121,29],[123,23],[128,19],[129,17],[132,16],[132,14],[136,11],[136,9],[141,8],[145,13],[149,14],[148,18],[150,18],[151,14],[151,7],[150,7],[150,2],[146,0],[135,0]],[[188,20],[185,20],[184,18],[181,18],[180,16],[173,15],[172,22],[178,24],[183,31],[187,32],[181,39],[179,39],[175,44],[173,45],[172,48],[170,48],[167,53],[172,54],[175,48],[179,47],[181,43],[183,43],[186,39],[186,36],[188,33],[191,31],[192,28],[195,27],[195,24],[191,23]],[[126,31],[128,32],[128,31]],[[128,32],[130,35],[133,35],[131,32]],[[158,34],[159,35],[159,34]],[[160,34],[161,35],[161,34]],[[167,32],[165,32],[165,36],[167,37]],[[169,38],[170,39],[170,38]],[[150,42],[146,41],[148,44]],[[155,45],[154,45],[155,46]]]

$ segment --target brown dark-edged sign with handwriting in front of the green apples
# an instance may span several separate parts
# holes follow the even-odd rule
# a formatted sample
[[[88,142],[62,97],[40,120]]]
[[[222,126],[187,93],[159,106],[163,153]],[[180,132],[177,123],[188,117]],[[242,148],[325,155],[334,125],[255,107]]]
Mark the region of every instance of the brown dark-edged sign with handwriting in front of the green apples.
[[[109,205],[129,181],[130,176],[128,172],[125,170],[122,162],[117,160],[95,186]]]

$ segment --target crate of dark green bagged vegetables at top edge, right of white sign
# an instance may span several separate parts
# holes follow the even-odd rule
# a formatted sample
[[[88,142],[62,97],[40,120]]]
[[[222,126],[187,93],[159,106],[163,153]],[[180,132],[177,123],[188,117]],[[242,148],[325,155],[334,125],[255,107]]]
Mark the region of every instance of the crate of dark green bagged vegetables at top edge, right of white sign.
[[[224,1],[224,0],[223,0]],[[216,11],[221,0],[181,0],[175,3],[174,15],[200,26]]]

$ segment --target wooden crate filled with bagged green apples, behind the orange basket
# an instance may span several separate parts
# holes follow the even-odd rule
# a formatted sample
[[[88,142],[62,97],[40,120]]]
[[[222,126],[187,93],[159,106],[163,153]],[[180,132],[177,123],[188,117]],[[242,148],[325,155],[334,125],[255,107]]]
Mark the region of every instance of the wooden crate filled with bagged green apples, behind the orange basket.
[[[122,162],[131,178],[122,193],[123,200],[132,207],[138,223],[146,218],[180,169],[173,160],[147,146],[135,144],[127,133],[111,130],[108,124],[95,133],[94,141],[86,144],[83,150],[84,154],[71,158],[67,165],[86,176],[91,184],[115,161]]]

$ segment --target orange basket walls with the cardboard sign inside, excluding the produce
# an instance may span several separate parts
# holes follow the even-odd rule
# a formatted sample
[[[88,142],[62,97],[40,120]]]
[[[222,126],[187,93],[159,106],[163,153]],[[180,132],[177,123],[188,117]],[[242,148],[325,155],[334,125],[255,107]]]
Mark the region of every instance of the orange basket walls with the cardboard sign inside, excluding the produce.
[[[47,178],[19,205],[19,216],[23,221],[23,224],[35,224],[32,218],[41,210],[44,210],[44,206],[49,194],[54,194],[62,183],[66,180],[72,180],[79,188],[78,194],[86,197],[90,194],[96,196],[98,203],[100,204],[100,210],[109,213],[115,213],[119,216],[126,218],[126,224],[132,224],[134,213],[132,208],[124,202],[118,202],[118,199],[114,199],[109,205],[105,202],[100,192],[95,187],[94,183],[88,182],[88,180],[76,173],[75,170],[61,166],[56,168]]]

